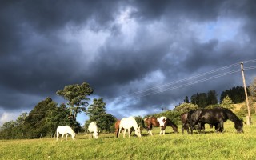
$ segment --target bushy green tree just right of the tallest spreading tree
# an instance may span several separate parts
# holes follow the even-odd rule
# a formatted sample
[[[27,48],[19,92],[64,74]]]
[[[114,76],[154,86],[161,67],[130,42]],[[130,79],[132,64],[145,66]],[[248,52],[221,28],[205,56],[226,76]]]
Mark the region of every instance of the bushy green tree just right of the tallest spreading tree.
[[[103,98],[94,98],[93,104],[88,107],[87,114],[89,115],[89,120],[85,123],[85,128],[87,129],[90,122],[96,122],[98,129],[102,132],[114,132],[114,122],[116,119],[111,114],[106,114],[106,103],[103,102]]]

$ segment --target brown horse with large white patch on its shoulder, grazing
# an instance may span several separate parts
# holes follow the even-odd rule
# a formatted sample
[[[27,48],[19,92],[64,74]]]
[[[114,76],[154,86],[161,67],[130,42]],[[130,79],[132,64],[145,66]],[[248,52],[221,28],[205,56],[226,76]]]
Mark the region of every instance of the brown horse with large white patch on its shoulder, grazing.
[[[175,125],[174,122],[170,121],[170,119],[166,118],[166,117],[161,117],[161,118],[149,117],[149,118],[145,118],[144,122],[146,123],[147,130],[150,135],[153,135],[152,134],[153,126],[155,126],[155,127],[160,126],[160,134],[162,134],[162,133],[165,134],[166,126],[171,126],[174,130],[174,133],[178,132],[178,126]]]

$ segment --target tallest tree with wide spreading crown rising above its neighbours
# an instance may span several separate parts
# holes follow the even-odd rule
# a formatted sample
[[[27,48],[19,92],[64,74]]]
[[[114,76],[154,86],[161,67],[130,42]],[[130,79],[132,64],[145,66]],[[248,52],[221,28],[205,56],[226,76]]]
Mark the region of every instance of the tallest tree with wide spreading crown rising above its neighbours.
[[[58,90],[56,94],[62,96],[67,101],[68,106],[70,106],[70,115],[74,114],[74,120],[78,113],[82,111],[86,111],[86,107],[88,106],[88,102],[90,96],[93,94],[94,90],[90,87],[90,85],[86,82],[83,82],[81,85],[74,84],[65,86],[63,90]]]

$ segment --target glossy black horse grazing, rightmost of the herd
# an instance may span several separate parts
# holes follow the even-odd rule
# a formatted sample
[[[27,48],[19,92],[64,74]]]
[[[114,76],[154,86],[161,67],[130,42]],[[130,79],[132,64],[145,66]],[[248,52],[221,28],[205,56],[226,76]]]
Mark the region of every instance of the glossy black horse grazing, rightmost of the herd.
[[[202,110],[201,114],[198,116],[197,121],[202,123],[208,123],[215,126],[215,130],[223,132],[224,122],[227,120],[234,122],[234,128],[238,133],[243,133],[242,119],[239,119],[231,110],[226,108],[216,107],[213,109]]]

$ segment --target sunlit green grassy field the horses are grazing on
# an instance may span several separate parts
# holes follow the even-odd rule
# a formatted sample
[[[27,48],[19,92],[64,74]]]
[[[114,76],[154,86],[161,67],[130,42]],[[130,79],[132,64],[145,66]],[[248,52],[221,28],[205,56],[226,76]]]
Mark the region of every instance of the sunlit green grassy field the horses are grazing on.
[[[254,119],[253,119],[254,120]],[[206,134],[178,134],[170,127],[166,135],[154,136],[142,130],[142,138],[114,138],[101,134],[98,139],[78,135],[72,141],[56,142],[55,138],[0,141],[0,159],[256,159],[256,126],[244,126],[237,134],[233,122],[224,123],[223,134],[206,125]]]

